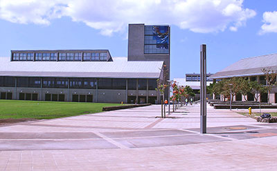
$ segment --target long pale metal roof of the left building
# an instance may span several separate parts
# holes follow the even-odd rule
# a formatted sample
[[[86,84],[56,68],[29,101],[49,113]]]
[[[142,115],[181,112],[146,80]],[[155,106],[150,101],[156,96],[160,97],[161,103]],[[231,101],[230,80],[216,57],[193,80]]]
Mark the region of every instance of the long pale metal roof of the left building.
[[[0,76],[159,78],[163,61],[10,61],[0,57]]]

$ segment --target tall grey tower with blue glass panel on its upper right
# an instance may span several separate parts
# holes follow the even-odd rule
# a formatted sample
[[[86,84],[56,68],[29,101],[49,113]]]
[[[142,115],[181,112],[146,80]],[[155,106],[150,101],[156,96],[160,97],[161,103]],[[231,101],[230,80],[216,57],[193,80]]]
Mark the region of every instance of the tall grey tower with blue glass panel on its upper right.
[[[170,26],[129,24],[128,61],[164,61],[166,80],[170,80]]]

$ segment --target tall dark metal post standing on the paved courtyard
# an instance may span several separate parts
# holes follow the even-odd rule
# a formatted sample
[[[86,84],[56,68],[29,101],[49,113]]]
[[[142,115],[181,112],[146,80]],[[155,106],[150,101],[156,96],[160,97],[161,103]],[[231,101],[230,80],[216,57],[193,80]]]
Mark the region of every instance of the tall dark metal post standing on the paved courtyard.
[[[200,133],[206,134],[207,121],[206,121],[206,45],[200,46],[200,77],[201,77],[201,88],[200,88]]]

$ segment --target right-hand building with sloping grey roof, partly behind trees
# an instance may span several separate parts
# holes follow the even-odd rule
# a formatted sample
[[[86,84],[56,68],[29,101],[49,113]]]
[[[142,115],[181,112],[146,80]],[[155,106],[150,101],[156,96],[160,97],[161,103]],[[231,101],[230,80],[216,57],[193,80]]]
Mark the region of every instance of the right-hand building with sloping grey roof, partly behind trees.
[[[265,74],[262,69],[270,68],[271,70],[277,70],[277,54],[267,54],[259,57],[249,57],[241,59],[231,66],[228,66],[211,75],[211,79],[230,79],[232,77],[244,77],[250,81],[258,81],[262,85],[267,85]],[[258,101],[267,103],[267,93],[256,94]],[[221,97],[222,99],[222,97]],[[222,99],[223,100],[223,99]],[[242,94],[236,94],[234,97],[235,101],[254,101],[253,94],[249,93],[244,98]],[[274,87],[269,94],[269,103],[277,103],[277,88]]]

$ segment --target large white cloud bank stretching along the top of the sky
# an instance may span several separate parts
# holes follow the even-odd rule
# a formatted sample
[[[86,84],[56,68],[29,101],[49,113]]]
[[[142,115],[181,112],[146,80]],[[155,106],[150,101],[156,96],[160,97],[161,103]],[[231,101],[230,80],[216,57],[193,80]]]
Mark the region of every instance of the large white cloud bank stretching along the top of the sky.
[[[126,32],[127,23],[170,24],[193,32],[237,31],[256,12],[242,0],[0,0],[0,19],[48,25],[71,17],[101,34]]]

